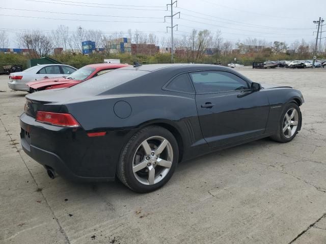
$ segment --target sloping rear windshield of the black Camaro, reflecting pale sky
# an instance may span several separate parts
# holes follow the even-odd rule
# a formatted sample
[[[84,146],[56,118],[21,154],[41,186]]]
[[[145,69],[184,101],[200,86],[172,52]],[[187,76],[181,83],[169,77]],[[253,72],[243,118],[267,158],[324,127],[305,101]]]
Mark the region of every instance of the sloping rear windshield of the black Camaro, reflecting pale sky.
[[[94,77],[79,83],[73,87],[91,89],[96,92],[105,92],[106,90],[112,89],[130,80],[138,78],[142,75],[148,74],[148,71],[144,70],[113,70],[103,75]]]

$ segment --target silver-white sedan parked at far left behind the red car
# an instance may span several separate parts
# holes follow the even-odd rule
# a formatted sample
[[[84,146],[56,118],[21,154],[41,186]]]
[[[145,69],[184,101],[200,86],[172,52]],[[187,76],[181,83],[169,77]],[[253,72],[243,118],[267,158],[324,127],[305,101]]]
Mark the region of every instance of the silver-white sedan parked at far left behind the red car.
[[[9,75],[8,86],[13,90],[30,92],[30,87],[26,85],[29,81],[67,76],[76,70],[76,68],[69,65],[37,65],[21,72],[11,73]]]

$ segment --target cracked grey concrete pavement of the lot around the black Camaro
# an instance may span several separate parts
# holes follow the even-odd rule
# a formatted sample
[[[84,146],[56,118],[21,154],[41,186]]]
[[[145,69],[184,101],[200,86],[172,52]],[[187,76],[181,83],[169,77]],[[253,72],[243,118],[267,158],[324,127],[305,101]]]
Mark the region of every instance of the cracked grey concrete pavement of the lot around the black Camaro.
[[[326,69],[238,71],[300,89],[301,132],[182,162],[149,194],[51,180],[21,150],[26,93],[0,76],[0,243],[326,243]]]

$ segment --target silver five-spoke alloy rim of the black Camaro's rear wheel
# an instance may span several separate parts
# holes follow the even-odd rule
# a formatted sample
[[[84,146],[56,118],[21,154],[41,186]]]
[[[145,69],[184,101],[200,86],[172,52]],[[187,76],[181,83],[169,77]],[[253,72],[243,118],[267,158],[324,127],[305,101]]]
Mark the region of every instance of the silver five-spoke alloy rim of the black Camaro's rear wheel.
[[[170,142],[161,136],[144,140],[135,151],[132,171],[135,178],[144,185],[154,185],[164,179],[173,162]]]

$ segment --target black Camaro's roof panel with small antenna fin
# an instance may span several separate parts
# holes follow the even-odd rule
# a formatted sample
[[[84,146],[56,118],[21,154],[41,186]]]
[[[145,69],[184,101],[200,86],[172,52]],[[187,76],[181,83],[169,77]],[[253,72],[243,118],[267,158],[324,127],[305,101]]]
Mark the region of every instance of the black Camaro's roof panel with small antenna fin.
[[[212,69],[212,68],[219,68],[229,70],[227,67],[219,66],[219,65],[206,65],[206,64],[155,64],[155,65],[142,65],[138,67],[128,66],[122,69],[125,70],[143,70],[143,71],[156,71],[160,69],[169,69],[169,70],[178,70],[181,68],[198,68],[198,69]]]

